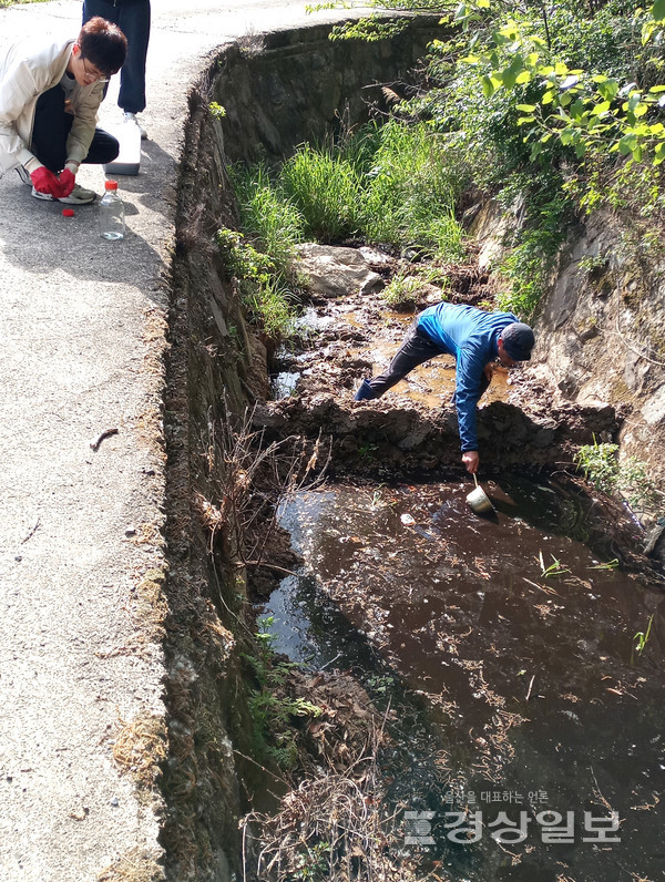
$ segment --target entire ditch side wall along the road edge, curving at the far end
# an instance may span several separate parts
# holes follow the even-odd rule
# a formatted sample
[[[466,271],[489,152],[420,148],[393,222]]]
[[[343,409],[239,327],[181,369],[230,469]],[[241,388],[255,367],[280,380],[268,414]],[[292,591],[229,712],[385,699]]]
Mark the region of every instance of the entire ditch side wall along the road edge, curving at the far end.
[[[241,657],[245,574],[209,555],[206,505],[221,506],[227,475],[213,454],[224,401],[239,413],[267,392],[266,350],[247,328],[214,245],[234,227],[225,163],[288,154],[305,139],[367,117],[378,99],[423,54],[438,19],[413,20],[399,38],[330,42],[329,25],[234,44],[215,58],[190,100],[178,183],[173,259],[166,526],[170,618],[166,684],[171,753],[162,843],[167,875],[228,882],[242,878],[238,819],[265,788],[249,757],[252,725]],[[369,89],[366,89],[369,86]],[[222,104],[226,117],[211,114]]]

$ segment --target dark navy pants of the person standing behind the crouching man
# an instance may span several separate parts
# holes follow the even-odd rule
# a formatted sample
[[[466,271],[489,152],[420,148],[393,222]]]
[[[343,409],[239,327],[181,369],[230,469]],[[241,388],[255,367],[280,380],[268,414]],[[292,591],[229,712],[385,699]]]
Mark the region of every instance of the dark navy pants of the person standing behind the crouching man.
[[[130,113],[145,110],[145,57],[150,40],[150,0],[84,0],[83,24],[93,16],[117,24],[127,38],[127,57],[120,72],[117,106]]]

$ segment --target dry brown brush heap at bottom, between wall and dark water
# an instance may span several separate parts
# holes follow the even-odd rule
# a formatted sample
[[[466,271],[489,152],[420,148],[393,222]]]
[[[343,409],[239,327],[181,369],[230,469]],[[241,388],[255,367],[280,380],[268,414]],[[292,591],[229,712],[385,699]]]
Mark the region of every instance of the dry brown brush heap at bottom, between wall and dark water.
[[[307,677],[294,668],[290,686],[319,712],[299,717],[299,765],[286,772],[278,811],[242,821],[247,865],[266,882],[418,882],[415,860],[401,848],[406,807],[390,808],[380,773],[395,711],[379,714],[348,674]]]

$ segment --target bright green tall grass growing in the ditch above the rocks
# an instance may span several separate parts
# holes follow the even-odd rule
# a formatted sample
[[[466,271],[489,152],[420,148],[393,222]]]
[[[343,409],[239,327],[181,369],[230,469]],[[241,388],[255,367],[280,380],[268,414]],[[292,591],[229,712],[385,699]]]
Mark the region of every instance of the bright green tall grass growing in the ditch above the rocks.
[[[277,246],[304,238],[362,238],[438,259],[464,253],[460,162],[424,123],[371,123],[338,144],[301,145],[273,175],[237,166],[233,181],[243,229],[274,260]]]

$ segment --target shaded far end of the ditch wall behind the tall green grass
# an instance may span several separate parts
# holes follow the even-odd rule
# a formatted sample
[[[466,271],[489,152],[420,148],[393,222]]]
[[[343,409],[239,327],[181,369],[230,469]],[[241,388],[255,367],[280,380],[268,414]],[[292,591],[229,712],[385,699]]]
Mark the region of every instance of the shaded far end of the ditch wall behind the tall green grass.
[[[223,151],[231,162],[279,161],[304,141],[320,143],[340,124],[368,119],[381,86],[408,93],[439,17],[413,19],[391,40],[331,41],[329,25],[282,31],[236,44],[219,59],[212,100],[226,110]]]

